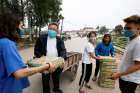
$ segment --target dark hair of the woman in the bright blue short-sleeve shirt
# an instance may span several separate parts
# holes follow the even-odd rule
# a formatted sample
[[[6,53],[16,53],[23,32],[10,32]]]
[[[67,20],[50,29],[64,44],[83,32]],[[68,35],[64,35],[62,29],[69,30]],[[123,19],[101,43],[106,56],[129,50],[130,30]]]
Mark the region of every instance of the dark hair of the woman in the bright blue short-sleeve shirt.
[[[12,41],[18,41],[17,26],[19,20],[11,13],[0,14],[0,38],[8,38]]]

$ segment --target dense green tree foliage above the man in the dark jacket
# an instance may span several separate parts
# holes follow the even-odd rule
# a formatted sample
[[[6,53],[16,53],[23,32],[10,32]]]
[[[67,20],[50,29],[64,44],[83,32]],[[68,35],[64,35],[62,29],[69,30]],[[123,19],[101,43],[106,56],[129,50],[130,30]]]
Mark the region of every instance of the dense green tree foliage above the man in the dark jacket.
[[[42,27],[48,24],[49,19],[52,22],[59,22],[60,11],[62,10],[60,7],[62,4],[61,0],[30,0],[30,2],[29,7],[32,7],[30,13],[36,26]]]

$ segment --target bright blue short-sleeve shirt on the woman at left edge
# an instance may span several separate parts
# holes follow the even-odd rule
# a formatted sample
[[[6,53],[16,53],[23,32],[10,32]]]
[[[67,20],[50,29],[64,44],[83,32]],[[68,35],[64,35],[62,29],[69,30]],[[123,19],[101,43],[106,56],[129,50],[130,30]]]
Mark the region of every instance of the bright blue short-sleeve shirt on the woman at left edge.
[[[7,39],[0,39],[0,93],[22,93],[22,89],[29,86],[27,78],[17,80],[13,73],[26,68],[20,57],[16,43]]]

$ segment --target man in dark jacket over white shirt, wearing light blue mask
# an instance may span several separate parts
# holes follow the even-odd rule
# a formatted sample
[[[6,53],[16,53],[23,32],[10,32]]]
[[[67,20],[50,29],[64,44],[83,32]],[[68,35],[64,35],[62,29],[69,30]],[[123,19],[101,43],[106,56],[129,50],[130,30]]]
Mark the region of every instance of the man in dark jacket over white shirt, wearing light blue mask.
[[[58,25],[51,23],[48,26],[48,33],[40,36],[35,44],[34,55],[35,57],[47,56],[47,57],[63,57],[66,59],[66,48],[63,40],[57,36]],[[51,93],[50,90],[50,76],[53,80],[53,91],[55,93],[63,93],[59,87],[61,68],[56,69],[51,74],[42,74],[43,93]]]

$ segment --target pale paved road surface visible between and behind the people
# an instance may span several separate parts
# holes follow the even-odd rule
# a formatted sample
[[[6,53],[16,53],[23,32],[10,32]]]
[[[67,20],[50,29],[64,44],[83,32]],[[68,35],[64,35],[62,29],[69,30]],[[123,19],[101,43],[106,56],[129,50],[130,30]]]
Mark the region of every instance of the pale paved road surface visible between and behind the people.
[[[74,38],[72,40],[68,40],[67,42],[65,42],[65,45],[66,45],[67,51],[82,52],[85,42],[86,42],[85,38],[84,39]],[[22,50],[20,51],[20,53],[23,57],[23,60],[26,61],[26,59],[29,59],[30,57],[33,56],[33,48]],[[95,64],[93,64],[93,67],[95,68]],[[78,82],[79,82],[80,75],[81,75],[81,65],[79,66],[76,80],[73,82],[70,81],[70,74],[68,72],[65,72],[62,74],[61,88],[64,91],[64,93],[79,93]],[[31,86],[25,89],[24,93],[43,93],[41,74],[33,75],[29,79],[30,79]],[[97,82],[92,82],[92,80],[90,80],[90,84],[93,86],[93,89],[87,90],[87,93],[120,93],[117,81],[116,81],[115,89],[100,88],[97,85]]]

